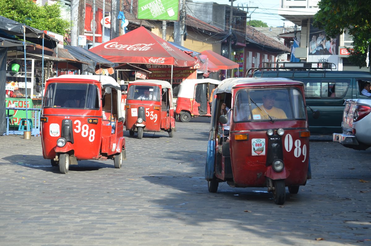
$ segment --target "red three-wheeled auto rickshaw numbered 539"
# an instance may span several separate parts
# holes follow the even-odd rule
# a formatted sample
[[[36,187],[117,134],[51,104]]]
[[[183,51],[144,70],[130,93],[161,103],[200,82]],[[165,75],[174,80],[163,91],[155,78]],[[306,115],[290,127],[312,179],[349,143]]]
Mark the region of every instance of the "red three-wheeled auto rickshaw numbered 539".
[[[173,92],[169,82],[162,80],[135,80],[128,84],[125,104],[125,126],[129,135],[143,132],[168,132],[174,136],[175,119]]]

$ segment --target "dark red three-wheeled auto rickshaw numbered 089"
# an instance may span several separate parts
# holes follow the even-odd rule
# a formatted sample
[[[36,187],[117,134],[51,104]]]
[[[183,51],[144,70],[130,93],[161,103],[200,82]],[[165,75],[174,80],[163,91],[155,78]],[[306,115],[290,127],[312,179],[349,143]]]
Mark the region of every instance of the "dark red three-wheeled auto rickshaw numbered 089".
[[[217,192],[219,182],[267,187],[276,204],[285,203],[285,187],[296,194],[311,177],[303,83],[233,78],[214,95],[205,172],[209,192]]]

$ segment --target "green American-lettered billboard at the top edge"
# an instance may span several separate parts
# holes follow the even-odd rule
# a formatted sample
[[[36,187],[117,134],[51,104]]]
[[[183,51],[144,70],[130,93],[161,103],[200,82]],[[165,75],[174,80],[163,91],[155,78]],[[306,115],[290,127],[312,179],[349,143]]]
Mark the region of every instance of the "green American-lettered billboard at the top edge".
[[[179,0],[138,0],[138,19],[179,20]]]

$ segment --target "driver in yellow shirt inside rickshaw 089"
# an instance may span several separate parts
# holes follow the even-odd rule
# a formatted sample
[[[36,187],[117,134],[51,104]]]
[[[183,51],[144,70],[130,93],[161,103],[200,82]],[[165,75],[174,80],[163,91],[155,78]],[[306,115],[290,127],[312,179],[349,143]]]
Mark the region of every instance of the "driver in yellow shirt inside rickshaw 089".
[[[285,111],[273,106],[276,96],[274,92],[263,96],[263,105],[252,110],[253,120],[269,120],[269,116],[272,119],[287,119]]]

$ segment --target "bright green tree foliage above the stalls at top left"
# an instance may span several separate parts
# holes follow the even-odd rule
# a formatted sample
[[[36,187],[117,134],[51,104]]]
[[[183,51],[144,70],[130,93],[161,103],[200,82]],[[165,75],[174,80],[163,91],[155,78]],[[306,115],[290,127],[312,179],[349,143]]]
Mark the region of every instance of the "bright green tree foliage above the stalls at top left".
[[[71,23],[61,16],[60,6],[39,6],[32,0],[0,0],[0,15],[39,30],[65,35]]]

